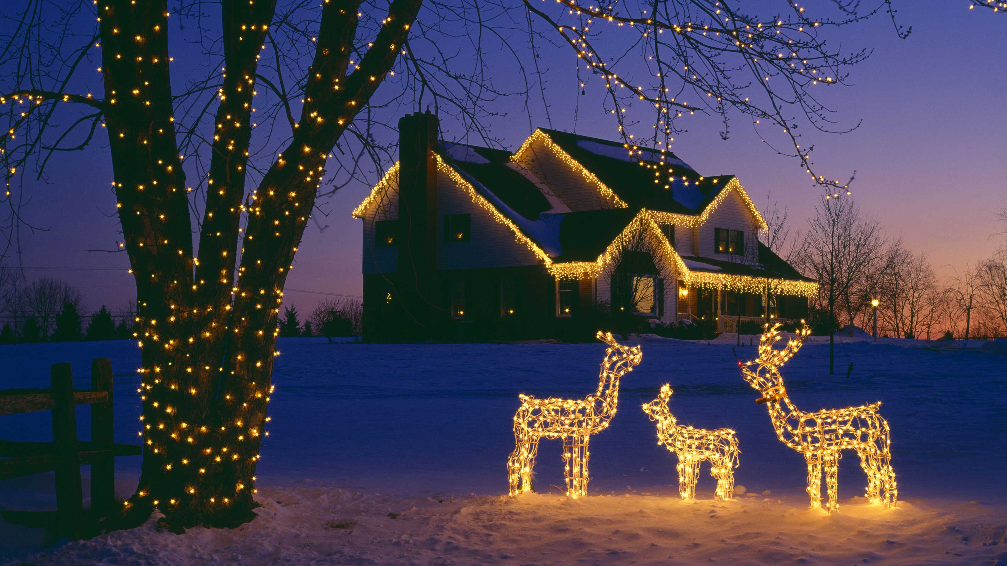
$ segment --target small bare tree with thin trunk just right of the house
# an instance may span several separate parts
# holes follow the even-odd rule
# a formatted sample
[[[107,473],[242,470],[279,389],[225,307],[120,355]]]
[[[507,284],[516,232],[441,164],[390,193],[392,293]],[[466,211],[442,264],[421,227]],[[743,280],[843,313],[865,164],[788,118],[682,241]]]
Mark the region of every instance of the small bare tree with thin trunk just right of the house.
[[[880,225],[864,218],[852,199],[826,197],[808,221],[799,265],[818,280],[816,300],[829,313],[830,375],[835,373],[836,307],[852,303],[851,293],[874,265],[882,246]]]

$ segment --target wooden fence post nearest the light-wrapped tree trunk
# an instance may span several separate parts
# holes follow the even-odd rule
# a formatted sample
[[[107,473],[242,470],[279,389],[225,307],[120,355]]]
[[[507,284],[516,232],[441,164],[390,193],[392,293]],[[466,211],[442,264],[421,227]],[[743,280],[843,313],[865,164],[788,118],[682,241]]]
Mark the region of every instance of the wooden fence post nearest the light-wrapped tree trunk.
[[[91,461],[91,509],[98,517],[108,517],[115,511],[116,456],[115,423],[112,399],[112,361],[96,358],[91,361],[91,389],[104,391],[108,401],[91,406],[91,445],[93,450],[109,450],[107,456]]]

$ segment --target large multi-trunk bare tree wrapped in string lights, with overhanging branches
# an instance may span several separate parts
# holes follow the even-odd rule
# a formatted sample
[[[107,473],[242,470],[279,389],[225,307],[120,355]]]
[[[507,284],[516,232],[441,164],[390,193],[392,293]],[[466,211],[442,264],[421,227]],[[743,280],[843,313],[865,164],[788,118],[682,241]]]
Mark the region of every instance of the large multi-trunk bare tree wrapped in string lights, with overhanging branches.
[[[157,508],[173,531],[254,517],[294,254],[319,192],[373,181],[390,163],[394,147],[382,139],[395,116],[433,105],[496,144],[483,123],[502,112],[490,105],[517,94],[527,107],[537,90],[548,112],[544,49],[569,47],[580,87],[600,87],[628,148],[669,147],[696,112],[722,119],[726,137],[740,115],[771,126],[776,137],[760,138],[781,140],[793,149],[778,153],[840,194],[848,181],[816,170],[798,125],[831,127],[816,90],[846,85],[868,55],[827,38],[893,13],[889,0],[814,16],[699,0],[650,2],[643,13],[574,0],[180,0],[173,10],[167,0],[22,0],[0,10],[18,22],[0,35],[10,134],[0,140],[0,258],[27,222],[25,179],[44,181],[52,159],[107,143],[119,246],[137,285],[135,331],[147,345],[143,412],[164,424],[143,432],[139,487],[116,524]],[[604,31],[606,22],[618,26]],[[182,58],[169,35],[201,56]],[[101,87],[84,75],[96,67]]]

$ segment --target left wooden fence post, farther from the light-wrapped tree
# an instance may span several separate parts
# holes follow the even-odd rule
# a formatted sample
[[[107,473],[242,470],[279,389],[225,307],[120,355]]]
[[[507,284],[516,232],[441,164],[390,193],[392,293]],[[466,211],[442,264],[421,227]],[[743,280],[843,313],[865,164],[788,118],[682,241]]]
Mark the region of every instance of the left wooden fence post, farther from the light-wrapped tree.
[[[74,412],[74,375],[69,364],[53,364],[50,374],[52,441],[56,452],[56,525],[60,534],[81,538],[84,503]]]

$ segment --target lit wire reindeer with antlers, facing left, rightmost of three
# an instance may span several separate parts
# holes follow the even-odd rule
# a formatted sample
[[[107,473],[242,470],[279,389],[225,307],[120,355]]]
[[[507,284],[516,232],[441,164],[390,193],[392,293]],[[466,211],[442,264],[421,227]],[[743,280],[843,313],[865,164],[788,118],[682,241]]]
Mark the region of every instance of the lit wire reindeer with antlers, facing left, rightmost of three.
[[[773,346],[781,338],[778,328],[778,323],[766,327],[759,338],[758,358],[738,365],[745,381],[762,394],[756,403],[768,407],[776,436],[804,454],[808,461],[808,496],[812,508],[821,506],[824,469],[829,489],[826,509],[829,513],[839,509],[836,472],[843,450],[856,450],[860,456],[860,467],[867,474],[867,498],[872,503],[883,502],[886,508],[894,507],[898,491],[891,467],[891,435],[888,422],[877,412],[881,403],[815,413],[799,410],[786,396],[779,368],[801,349],[811,330],[803,325],[798,336],[789,337],[783,347],[776,348]]]

